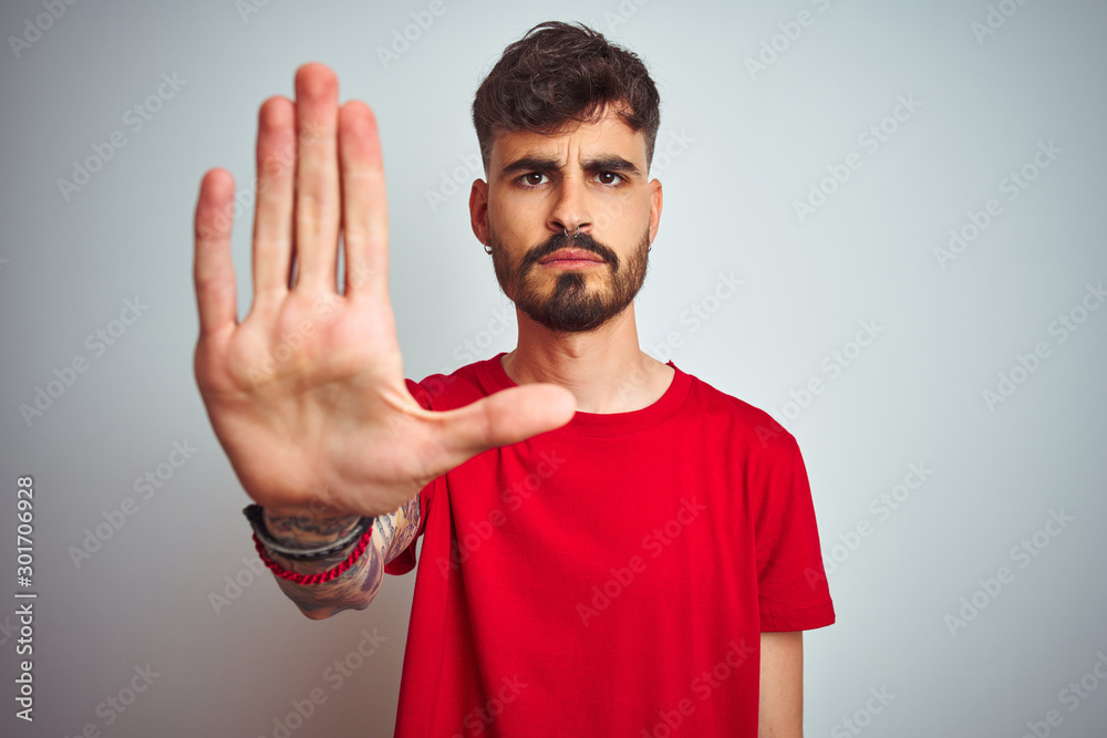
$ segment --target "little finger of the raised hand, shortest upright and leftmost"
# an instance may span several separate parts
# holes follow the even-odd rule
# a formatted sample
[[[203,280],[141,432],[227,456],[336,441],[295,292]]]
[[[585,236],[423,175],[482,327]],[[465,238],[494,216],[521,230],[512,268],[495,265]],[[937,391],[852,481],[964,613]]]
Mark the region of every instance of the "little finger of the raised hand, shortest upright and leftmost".
[[[226,169],[211,169],[200,181],[194,221],[193,280],[200,315],[200,336],[238,323],[235,264],[230,259],[231,202],[235,179]]]

